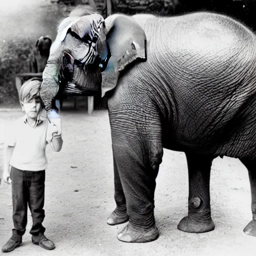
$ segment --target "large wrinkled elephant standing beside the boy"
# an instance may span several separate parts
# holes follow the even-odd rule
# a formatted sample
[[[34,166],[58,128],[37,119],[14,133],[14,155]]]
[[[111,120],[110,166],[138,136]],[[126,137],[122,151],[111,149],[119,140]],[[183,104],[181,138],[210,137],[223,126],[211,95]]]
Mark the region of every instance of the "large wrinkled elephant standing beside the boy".
[[[239,158],[248,169],[256,236],[256,36],[226,15],[194,12],[160,17],[99,14],[66,18],[43,71],[40,96],[48,118],[59,91],[108,96],[115,209],[107,223],[128,221],[125,242],[149,242],[156,176],[163,148],[183,151],[188,213],[177,228],[214,229],[212,160]],[[54,120],[52,119],[54,122]]]

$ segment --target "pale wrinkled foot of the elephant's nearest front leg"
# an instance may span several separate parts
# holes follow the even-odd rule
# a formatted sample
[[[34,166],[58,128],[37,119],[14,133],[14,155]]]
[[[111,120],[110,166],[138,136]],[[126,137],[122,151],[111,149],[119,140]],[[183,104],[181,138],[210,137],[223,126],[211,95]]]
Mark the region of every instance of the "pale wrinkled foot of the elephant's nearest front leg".
[[[159,233],[156,226],[149,230],[139,231],[130,227],[128,223],[118,232],[117,238],[123,242],[150,242],[157,239],[158,235]]]

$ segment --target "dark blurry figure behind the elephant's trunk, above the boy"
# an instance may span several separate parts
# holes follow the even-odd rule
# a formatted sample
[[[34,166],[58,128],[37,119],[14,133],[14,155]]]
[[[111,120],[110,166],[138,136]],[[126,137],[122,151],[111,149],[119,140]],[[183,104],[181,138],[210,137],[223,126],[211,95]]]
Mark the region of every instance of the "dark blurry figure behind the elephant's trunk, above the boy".
[[[51,39],[48,36],[40,36],[35,47],[29,55],[29,71],[40,73],[43,71],[50,52]]]

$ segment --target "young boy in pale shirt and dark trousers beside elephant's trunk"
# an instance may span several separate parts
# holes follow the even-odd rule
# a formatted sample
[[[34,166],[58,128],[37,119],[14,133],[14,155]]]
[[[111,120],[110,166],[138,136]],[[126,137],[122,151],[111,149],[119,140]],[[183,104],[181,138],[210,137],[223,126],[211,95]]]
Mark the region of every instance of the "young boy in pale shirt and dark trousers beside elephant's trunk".
[[[8,252],[19,246],[27,223],[27,205],[32,215],[32,242],[44,249],[54,249],[52,241],[44,236],[44,179],[47,159],[45,146],[54,151],[62,146],[61,134],[47,118],[40,116],[39,97],[41,81],[30,79],[20,89],[19,101],[25,115],[9,127],[4,143],[3,180],[11,183],[13,225],[12,236],[2,246]],[[10,171],[9,171],[10,167]]]

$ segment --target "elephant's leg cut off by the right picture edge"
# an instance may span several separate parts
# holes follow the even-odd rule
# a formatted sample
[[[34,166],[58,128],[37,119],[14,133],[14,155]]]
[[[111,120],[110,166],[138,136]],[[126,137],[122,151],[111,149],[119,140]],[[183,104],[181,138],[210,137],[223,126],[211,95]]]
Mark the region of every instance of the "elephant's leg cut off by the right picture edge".
[[[252,220],[244,227],[243,232],[251,236],[256,236],[256,161],[241,159],[241,162],[248,169],[252,211]]]

